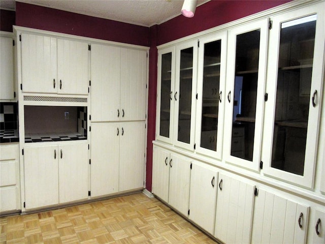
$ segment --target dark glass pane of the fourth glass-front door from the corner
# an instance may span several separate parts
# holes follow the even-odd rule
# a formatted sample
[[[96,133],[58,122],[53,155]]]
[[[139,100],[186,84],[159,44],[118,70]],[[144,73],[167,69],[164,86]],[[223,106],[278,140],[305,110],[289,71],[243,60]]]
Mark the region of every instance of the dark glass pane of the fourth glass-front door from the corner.
[[[231,155],[253,160],[260,30],[236,37]]]

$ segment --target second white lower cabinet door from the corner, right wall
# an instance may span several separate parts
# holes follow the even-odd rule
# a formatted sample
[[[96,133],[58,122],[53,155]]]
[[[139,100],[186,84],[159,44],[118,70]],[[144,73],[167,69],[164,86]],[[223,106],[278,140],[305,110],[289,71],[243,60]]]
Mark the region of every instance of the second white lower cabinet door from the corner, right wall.
[[[168,203],[184,216],[189,204],[190,164],[189,159],[171,154]]]

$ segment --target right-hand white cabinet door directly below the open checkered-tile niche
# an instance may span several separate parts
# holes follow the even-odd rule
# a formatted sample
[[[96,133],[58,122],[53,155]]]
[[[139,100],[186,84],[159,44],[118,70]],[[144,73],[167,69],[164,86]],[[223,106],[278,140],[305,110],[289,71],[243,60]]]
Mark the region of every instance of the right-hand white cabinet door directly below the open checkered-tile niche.
[[[72,202],[88,197],[88,143],[60,145],[59,202]]]

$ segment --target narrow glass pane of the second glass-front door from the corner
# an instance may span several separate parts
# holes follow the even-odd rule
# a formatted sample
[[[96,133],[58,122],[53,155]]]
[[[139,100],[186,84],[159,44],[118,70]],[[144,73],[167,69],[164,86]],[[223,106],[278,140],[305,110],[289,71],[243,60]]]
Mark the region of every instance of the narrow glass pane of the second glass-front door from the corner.
[[[179,95],[175,94],[175,98],[179,99],[177,140],[189,143],[191,130],[193,48],[183,49],[180,54]]]

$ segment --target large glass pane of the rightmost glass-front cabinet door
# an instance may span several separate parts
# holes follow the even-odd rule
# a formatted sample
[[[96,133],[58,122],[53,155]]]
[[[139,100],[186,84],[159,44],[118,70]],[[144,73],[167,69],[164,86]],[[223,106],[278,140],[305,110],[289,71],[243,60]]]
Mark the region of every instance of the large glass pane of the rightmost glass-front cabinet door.
[[[304,175],[316,15],[280,31],[271,167]]]

